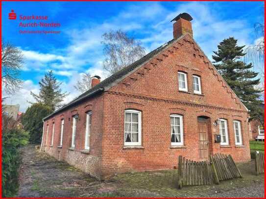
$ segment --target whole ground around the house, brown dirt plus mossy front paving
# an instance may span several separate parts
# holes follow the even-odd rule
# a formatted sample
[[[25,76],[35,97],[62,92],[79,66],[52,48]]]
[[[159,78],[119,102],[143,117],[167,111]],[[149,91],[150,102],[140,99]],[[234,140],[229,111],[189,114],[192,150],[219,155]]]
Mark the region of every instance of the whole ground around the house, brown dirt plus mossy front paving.
[[[179,190],[177,170],[120,174],[97,179],[29,145],[23,149],[18,197],[263,197],[264,175],[255,175],[254,161],[238,164],[243,178],[219,185]]]

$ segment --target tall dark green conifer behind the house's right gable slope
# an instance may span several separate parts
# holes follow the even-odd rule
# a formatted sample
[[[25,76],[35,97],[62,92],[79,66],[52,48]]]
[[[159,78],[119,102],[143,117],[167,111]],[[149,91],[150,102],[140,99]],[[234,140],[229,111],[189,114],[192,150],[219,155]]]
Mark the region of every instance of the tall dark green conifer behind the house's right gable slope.
[[[227,84],[234,90],[242,103],[250,110],[250,119],[261,120],[264,114],[261,109],[263,103],[260,100],[262,90],[258,89],[259,74],[251,68],[252,64],[241,61],[245,55],[244,45],[238,46],[234,37],[224,39],[218,44],[218,51],[214,51],[214,66],[218,69]]]

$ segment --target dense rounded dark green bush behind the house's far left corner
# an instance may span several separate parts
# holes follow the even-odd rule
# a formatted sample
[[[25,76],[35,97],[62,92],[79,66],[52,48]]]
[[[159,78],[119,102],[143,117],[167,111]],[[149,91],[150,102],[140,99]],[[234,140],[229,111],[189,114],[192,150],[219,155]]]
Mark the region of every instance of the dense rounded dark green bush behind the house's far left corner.
[[[31,144],[41,143],[43,133],[43,118],[52,112],[51,108],[42,103],[34,103],[27,108],[22,117],[24,130],[29,132]]]

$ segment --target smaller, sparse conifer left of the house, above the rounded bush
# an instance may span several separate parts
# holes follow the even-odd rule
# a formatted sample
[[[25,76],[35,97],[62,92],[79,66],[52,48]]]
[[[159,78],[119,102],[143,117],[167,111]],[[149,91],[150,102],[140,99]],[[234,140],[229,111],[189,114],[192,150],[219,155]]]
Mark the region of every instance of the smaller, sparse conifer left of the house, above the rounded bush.
[[[56,108],[62,106],[61,102],[69,94],[67,92],[62,92],[60,88],[61,84],[62,83],[57,82],[52,70],[49,70],[41,82],[39,82],[41,87],[39,94],[34,94],[33,92],[30,92],[30,94],[37,102],[50,107],[51,110],[54,111]]]

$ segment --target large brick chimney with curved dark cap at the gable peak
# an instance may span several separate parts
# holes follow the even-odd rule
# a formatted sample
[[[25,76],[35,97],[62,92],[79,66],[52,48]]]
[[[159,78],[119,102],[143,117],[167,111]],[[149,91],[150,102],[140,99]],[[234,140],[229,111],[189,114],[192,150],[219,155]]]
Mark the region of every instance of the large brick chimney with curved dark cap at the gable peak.
[[[188,13],[182,13],[177,15],[172,21],[175,21],[173,23],[173,38],[177,39],[178,37],[190,34],[193,37],[193,31],[192,31],[192,17]],[[171,22],[172,22],[171,21]]]

